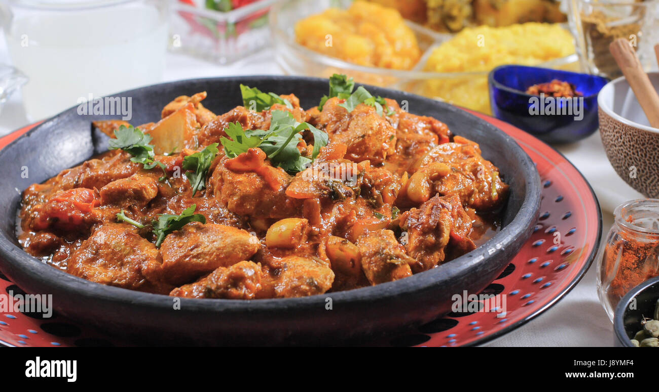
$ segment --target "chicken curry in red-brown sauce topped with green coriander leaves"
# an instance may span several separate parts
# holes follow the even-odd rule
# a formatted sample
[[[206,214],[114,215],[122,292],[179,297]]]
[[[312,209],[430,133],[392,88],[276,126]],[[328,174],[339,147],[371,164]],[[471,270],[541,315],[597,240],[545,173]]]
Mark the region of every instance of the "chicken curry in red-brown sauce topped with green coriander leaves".
[[[91,282],[262,299],[399,280],[492,235],[508,185],[478,144],[354,87],[335,75],[308,110],[241,86],[219,116],[204,92],[157,123],[94,122],[109,151],[28,187],[19,241]]]

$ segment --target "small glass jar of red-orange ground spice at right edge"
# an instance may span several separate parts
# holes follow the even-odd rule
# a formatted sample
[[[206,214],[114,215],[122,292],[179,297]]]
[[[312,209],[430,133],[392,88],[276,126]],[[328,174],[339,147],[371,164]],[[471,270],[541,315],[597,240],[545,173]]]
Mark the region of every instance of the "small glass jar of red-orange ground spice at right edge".
[[[629,290],[659,276],[659,199],[627,201],[614,218],[597,266],[598,295],[612,321]]]

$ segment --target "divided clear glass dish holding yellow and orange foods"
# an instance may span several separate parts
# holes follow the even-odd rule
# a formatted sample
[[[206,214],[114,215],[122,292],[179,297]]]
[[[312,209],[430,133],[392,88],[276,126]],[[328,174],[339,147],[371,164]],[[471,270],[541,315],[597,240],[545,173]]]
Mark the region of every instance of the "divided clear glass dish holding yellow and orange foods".
[[[488,93],[489,71],[426,72],[423,70],[435,47],[451,39],[453,34],[434,32],[408,21],[407,25],[415,32],[423,53],[418,64],[411,70],[360,66],[317,53],[295,41],[295,24],[299,20],[318,14],[329,7],[347,8],[351,3],[352,0],[287,0],[273,6],[270,12],[270,28],[273,34],[275,59],[285,74],[321,78],[329,78],[335,73],[347,74],[355,78],[358,83],[399,89],[491,114]],[[533,65],[578,70],[578,62],[577,55],[573,54]]]

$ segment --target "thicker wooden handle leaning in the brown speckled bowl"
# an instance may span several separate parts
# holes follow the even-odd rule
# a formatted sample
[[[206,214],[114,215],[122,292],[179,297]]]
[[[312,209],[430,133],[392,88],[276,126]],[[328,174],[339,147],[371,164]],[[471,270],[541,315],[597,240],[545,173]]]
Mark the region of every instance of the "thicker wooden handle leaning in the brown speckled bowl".
[[[609,50],[634,91],[650,126],[659,128],[659,95],[650,83],[648,74],[643,70],[636,52],[631,49],[629,41],[618,38],[609,45]]]

